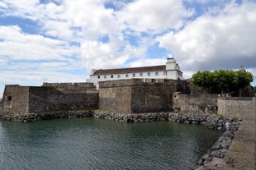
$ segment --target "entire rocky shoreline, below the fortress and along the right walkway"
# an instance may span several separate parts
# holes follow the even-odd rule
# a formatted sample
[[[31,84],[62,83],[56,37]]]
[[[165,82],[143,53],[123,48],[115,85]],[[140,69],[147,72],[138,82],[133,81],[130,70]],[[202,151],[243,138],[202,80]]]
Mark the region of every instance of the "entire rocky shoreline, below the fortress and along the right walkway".
[[[225,163],[225,156],[239,129],[240,121],[230,120],[230,130],[225,131],[225,117],[220,117],[211,113],[140,113],[140,114],[121,114],[109,113],[100,110],[93,111],[59,111],[47,113],[0,113],[1,121],[11,122],[35,122],[40,120],[50,120],[56,118],[70,117],[93,117],[103,118],[111,121],[135,123],[135,122],[157,122],[172,121],[187,124],[201,124],[207,128],[217,131],[224,131],[214,145],[207,150],[198,163],[195,170],[201,169],[220,169]]]

